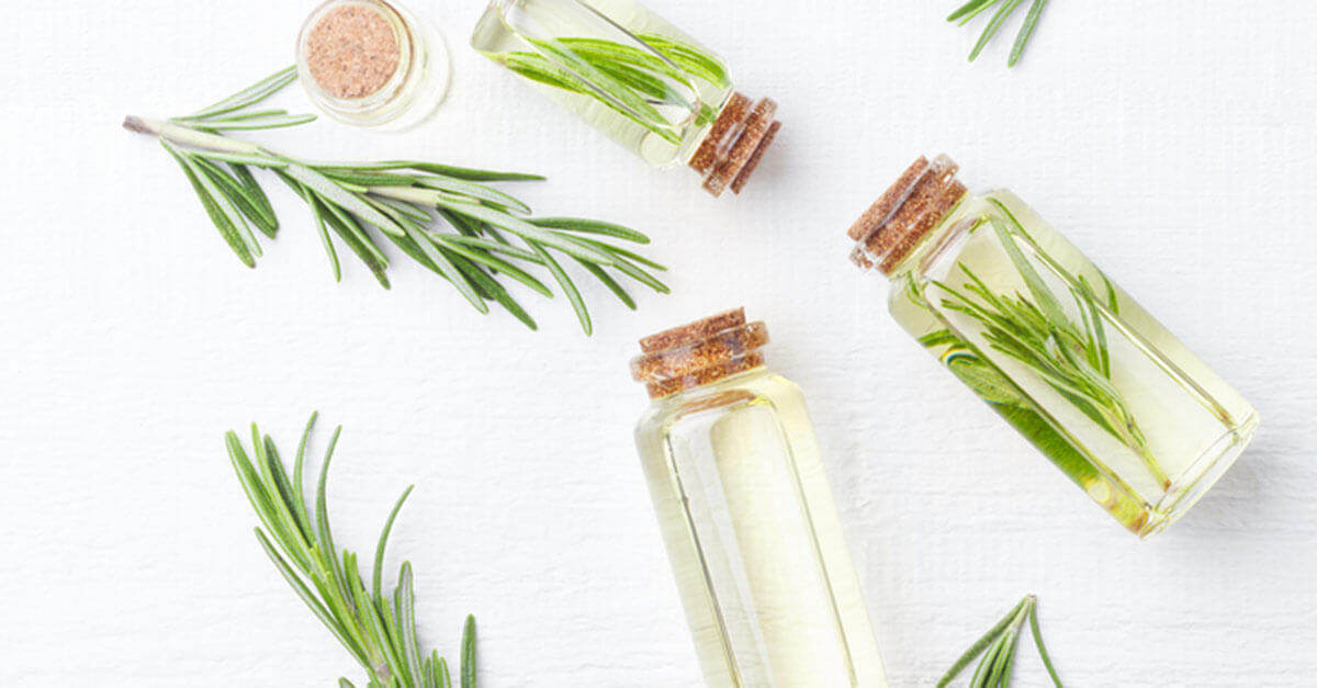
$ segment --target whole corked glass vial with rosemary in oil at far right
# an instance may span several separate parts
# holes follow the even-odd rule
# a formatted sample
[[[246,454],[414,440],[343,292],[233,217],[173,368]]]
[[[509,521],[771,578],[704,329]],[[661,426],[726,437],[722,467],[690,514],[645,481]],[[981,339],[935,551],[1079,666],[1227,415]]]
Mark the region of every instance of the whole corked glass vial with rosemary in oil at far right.
[[[1252,406],[1008,190],[919,158],[849,231],[925,348],[1126,529],[1183,515],[1258,428]]]

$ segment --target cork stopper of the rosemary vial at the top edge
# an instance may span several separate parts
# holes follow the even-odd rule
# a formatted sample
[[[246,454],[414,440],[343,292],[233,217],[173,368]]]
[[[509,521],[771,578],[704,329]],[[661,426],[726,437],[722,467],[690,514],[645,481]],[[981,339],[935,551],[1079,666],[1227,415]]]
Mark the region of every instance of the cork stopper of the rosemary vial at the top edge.
[[[773,119],[777,103],[764,98],[757,103],[732,92],[718,119],[699,142],[687,165],[705,179],[705,191],[719,196],[731,186],[740,194],[764,152],[773,144],[782,123]]]

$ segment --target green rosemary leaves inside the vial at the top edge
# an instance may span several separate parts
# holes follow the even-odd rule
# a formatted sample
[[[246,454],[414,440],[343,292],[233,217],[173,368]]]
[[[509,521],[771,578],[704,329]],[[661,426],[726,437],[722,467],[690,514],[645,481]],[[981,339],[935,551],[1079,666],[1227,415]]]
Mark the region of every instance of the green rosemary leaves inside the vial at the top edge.
[[[593,98],[669,144],[681,144],[681,124],[662,105],[678,105],[705,125],[716,112],[699,101],[693,79],[731,86],[727,67],[703,50],[660,34],[637,33],[641,47],[599,38],[527,40],[537,51],[490,55],[537,83]]]

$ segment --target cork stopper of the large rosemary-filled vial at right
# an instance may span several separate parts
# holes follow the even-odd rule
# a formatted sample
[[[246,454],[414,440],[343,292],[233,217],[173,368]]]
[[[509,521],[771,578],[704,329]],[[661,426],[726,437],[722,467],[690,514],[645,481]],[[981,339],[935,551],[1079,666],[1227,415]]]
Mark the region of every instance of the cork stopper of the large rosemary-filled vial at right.
[[[964,198],[965,186],[956,181],[959,169],[947,156],[914,161],[847,231],[856,243],[851,261],[892,274]]]

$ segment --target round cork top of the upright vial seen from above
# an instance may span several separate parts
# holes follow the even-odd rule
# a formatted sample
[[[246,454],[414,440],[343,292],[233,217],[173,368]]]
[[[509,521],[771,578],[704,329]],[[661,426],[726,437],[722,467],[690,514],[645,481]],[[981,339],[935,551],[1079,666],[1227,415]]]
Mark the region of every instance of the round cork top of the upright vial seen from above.
[[[341,4],[307,34],[311,78],[335,98],[371,95],[394,76],[402,51],[383,7]]]

